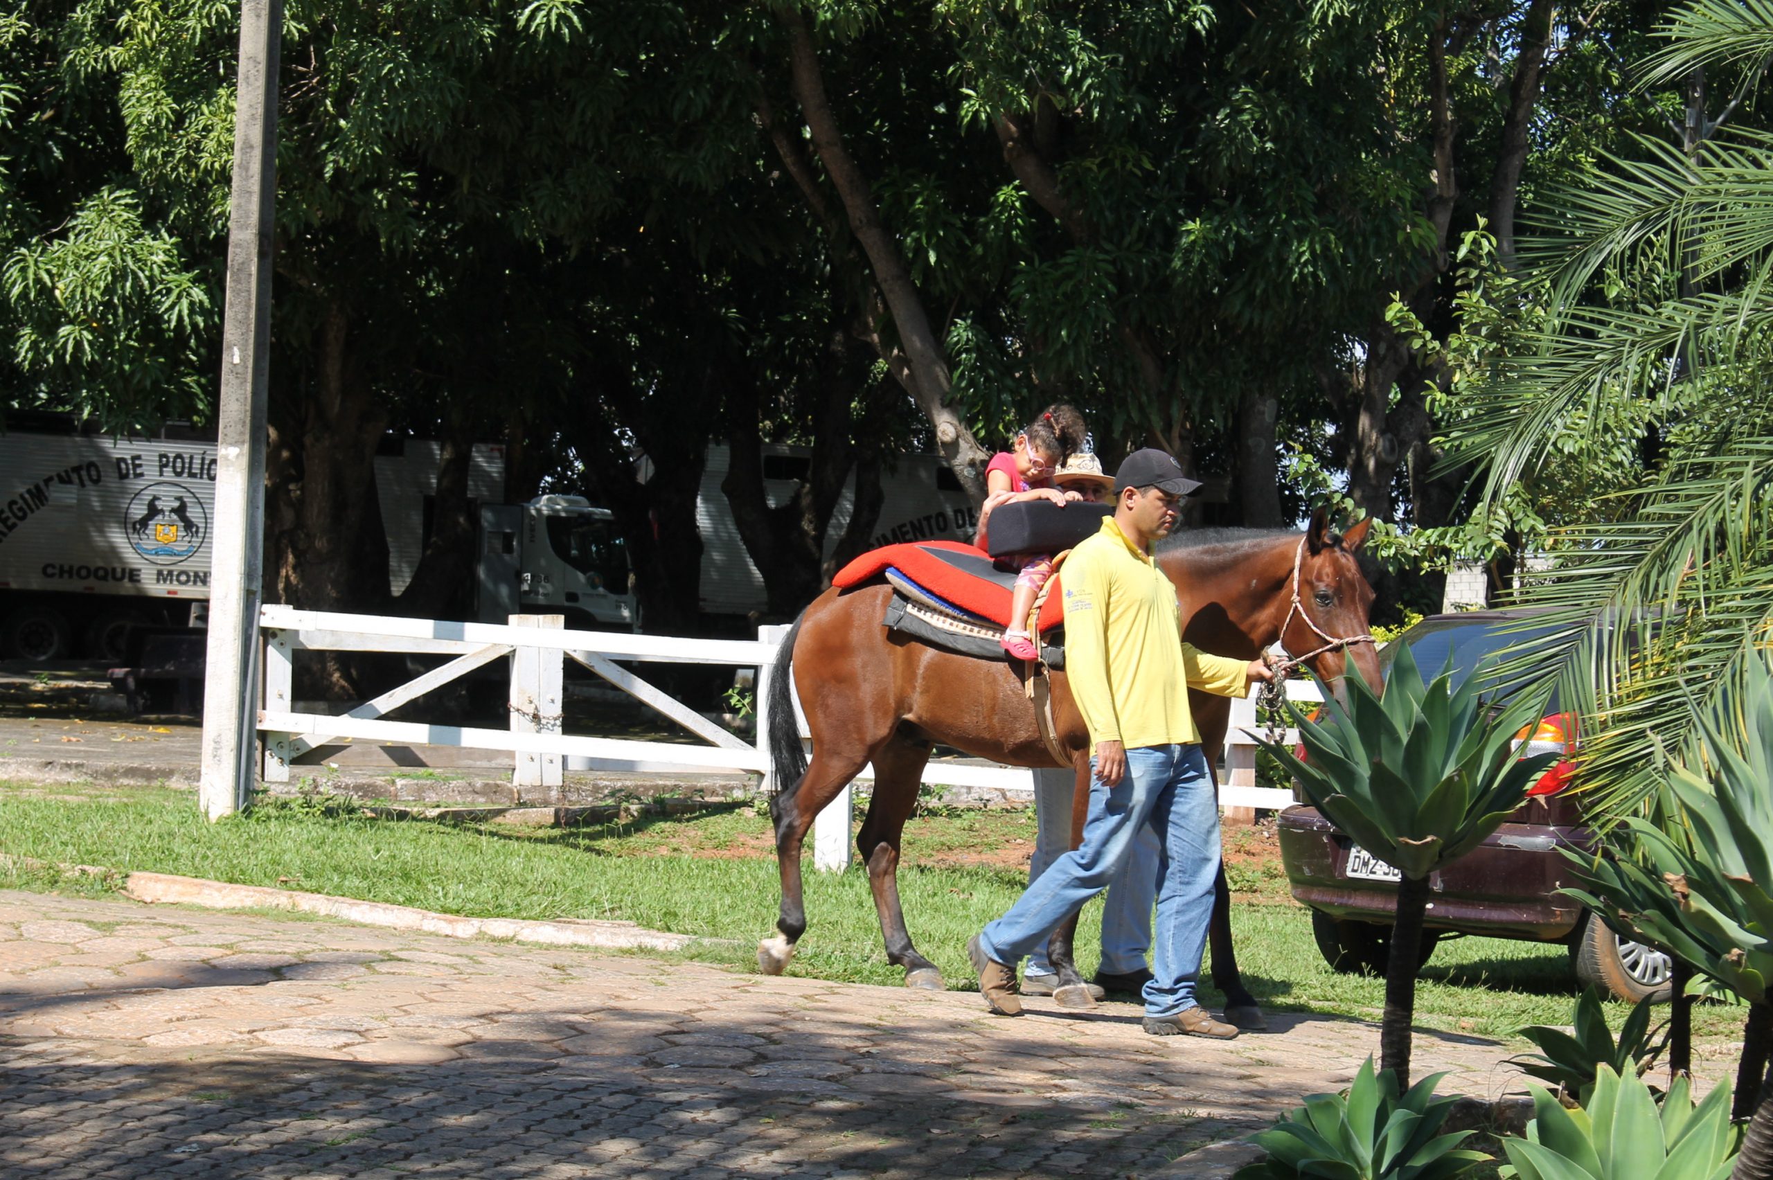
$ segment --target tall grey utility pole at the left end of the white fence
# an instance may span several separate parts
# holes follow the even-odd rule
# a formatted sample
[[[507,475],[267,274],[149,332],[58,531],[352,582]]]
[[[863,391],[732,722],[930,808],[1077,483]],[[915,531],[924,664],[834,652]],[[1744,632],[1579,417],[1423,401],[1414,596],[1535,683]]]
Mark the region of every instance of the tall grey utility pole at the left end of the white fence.
[[[277,209],[277,55],[282,0],[241,0],[234,195],[222,312],[216,519],[199,803],[220,819],[246,804],[259,721],[264,576],[264,409],[271,376],[271,237]]]

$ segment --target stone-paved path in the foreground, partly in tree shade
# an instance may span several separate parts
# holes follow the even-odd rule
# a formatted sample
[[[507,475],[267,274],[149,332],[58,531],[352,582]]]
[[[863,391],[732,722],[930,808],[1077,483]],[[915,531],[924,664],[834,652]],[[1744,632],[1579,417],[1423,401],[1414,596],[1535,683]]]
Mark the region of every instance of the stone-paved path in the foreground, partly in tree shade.
[[[0,891],[0,1173],[1149,1176],[1378,1047],[1046,1003]],[[1500,1056],[1417,1036],[1475,1097]]]

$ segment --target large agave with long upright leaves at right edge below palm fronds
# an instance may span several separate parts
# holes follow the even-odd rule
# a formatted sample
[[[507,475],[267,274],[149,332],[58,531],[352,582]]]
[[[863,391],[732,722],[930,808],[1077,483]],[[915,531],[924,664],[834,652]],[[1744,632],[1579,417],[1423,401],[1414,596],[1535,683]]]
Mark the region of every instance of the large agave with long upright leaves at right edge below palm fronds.
[[[1753,659],[1725,707],[1695,718],[1699,749],[1668,767],[1665,824],[1626,820],[1610,854],[1571,856],[1596,912],[1668,948],[1743,999],[1773,980],[1773,668]]]

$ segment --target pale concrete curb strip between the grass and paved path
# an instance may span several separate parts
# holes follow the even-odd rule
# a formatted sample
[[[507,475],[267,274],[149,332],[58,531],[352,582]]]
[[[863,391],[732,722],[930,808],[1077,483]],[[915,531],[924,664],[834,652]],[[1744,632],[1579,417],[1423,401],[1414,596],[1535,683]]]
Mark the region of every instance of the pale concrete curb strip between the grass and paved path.
[[[324,914],[367,927],[394,930],[424,930],[452,939],[512,939],[544,946],[594,946],[599,950],[683,950],[697,939],[688,934],[647,930],[631,921],[592,921],[567,918],[558,921],[527,921],[521,918],[461,918],[436,914],[410,905],[387,902],[358,902],[348,897],[298,893],[266,886],[241,886],[172,873],[129,873],[122,886],[124,897],[154,905],[179,904],[204,909],[289,909],[303,914]]]

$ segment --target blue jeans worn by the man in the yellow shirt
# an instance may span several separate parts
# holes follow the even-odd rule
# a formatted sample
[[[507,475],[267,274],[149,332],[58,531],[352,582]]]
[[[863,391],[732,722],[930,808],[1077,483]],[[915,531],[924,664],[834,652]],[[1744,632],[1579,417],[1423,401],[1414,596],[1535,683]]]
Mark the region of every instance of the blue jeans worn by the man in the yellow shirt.
[[[1090,785],[1083,843],[1053,861],[1007,914],[984,928],[980,948],[1012,964],[1044,944],[1113,881],[1147,822],[1158,833],[1160,886],[1145,1015],[1193,1008],[1220,865],[1218,799],[1200,746],[1128,749],[1119,787],[1099,778]]]

